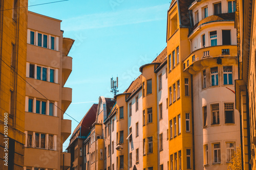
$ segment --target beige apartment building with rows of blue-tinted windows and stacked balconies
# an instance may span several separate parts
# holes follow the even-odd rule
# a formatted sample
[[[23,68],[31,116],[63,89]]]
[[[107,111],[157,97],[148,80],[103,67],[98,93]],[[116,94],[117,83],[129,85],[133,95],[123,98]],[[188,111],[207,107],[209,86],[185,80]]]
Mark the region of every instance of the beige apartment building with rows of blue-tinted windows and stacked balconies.
[[[63,114],[72,101],[64,87],[71,71],[73,39],[63,37],[61,20],[28,12],[24,170],[67,169],[62,143],[71,134]]]

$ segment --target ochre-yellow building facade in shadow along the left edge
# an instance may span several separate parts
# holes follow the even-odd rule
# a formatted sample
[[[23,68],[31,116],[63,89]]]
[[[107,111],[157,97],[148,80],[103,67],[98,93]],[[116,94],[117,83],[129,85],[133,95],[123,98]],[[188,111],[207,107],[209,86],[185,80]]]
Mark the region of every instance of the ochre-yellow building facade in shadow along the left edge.
[[[23,0],[0,1],[1,169],[24,166],[27,6]]]

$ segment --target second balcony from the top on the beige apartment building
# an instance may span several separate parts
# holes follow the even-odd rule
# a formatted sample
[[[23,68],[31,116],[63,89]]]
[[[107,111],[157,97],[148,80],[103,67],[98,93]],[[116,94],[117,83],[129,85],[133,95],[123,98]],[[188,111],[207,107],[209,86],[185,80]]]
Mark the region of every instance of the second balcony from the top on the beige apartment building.
[[[65,85],[72,71],[72,57],[62,56],[62,85]]]

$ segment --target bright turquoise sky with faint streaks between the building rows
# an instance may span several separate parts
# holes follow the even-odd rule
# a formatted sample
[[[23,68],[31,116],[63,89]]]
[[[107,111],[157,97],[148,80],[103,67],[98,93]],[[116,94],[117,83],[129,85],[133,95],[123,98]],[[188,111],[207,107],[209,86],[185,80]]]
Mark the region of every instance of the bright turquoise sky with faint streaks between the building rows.
[[[29,0],[30,5],[60,0]],[[122,93],[166,46],[168,0],[69,0],[29,7],[29,11],[62,20],[63,36],[75,39],[69,53],[73,69],[65,87],[73,89],[66,113],[78,122],[99,96],[107,98],[111,77]],[[72,119],[66,114],[66,119]],[[78,125],[72,119],[72,132]],[[69,144],[63,143],[63,149]]]

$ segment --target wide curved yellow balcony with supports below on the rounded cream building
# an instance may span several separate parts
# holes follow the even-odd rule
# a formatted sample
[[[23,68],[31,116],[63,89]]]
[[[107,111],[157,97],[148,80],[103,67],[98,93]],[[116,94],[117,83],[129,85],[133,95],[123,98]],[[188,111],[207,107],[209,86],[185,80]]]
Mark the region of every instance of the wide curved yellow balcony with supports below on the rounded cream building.
[[[226,61],[227,58],[232,60],[232,57],[237,57],[237,45],[208,46],[200,48],[188,55],[183,60],[183,69],[189,69],[190,74],[195,74],[196,71],[201,69],[201,66],[210,64],[209,59],[222,58],[222,61]],[[190,66],[193,66],[193,69],[190,69]]]

